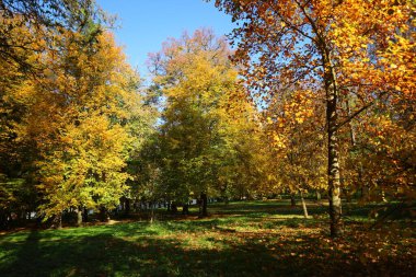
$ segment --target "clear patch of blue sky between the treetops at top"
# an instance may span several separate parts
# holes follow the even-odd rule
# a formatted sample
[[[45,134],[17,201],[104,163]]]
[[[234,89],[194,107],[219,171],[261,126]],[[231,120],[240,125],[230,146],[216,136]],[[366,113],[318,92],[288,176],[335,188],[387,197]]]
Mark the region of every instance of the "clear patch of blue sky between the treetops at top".
[[[118,18],[114,31],[125,46],[128,61],[146,77],[148,53],[158,51],[167,37],[212,27],[217,35],[231,32],[231,18],[203,0],[96,0],[106,12]]]

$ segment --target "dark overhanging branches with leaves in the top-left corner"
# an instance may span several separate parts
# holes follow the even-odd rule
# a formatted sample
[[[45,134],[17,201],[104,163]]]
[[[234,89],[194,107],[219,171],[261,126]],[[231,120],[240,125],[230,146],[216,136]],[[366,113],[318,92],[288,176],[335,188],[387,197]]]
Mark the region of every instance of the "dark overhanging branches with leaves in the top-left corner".
[[[0,59],[35,74],[39,65],[34,65],[31,56],[54,50],[62,28],[89,28],[89,38],[94,39],[102,26],[112,22],[94,0],[4,0],[0,2]],[[25,34],[16,36],[22,28]]]

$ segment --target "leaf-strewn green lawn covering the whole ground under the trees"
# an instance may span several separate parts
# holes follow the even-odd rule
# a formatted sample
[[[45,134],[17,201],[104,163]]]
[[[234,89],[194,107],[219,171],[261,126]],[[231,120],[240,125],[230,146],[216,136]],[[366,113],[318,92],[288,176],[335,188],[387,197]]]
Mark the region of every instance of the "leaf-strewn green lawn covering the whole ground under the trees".
[[[326,207],[310,205],[304,219],[286,200],[211,205],[205,219],[9,233],[0,235],[0,276],[414,275],[413,226],[368,229],[370,208],[349,207],[336,241]]]

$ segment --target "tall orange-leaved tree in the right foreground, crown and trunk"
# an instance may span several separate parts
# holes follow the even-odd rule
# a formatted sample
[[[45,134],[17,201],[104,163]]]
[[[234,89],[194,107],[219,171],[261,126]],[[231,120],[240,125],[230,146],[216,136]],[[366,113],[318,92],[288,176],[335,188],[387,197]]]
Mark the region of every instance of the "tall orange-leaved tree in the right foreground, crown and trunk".
[[[331,235],[340,235],[339,132],[386,95],[412,94],[412,39],[406,35],[413,21],[411,1],[216,4],[242,24],[232,34],[238,44],[234,61],[242,65],[246,83],[262,104],[297,83],[315,95],[323,91]],[[357,99],[350,115],[342,105],[347,95]]]

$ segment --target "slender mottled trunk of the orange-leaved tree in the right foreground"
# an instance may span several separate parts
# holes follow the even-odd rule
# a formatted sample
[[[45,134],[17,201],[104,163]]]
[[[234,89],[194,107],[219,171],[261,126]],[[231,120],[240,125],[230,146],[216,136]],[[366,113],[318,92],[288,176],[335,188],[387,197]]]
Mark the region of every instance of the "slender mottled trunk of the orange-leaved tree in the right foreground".
[[[328,136],[328,200],[331,217],[331,236],[342,234],[342,206],[340,206],[340,180],[339,180],[339,151],[337,136],[337,100],[338,85],[332,65],[330,53],[324,56],[324,81],[326,91],[326,124]]]

